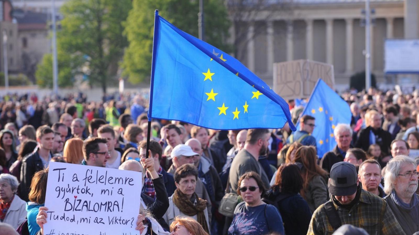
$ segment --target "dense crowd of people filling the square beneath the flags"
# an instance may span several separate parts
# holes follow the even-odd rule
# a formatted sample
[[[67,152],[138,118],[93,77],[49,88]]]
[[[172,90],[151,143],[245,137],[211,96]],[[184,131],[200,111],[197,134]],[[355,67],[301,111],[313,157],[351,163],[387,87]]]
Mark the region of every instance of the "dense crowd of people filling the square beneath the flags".
[[[0,97],[0,230],[44,235],[59,161],[142,172],[142,234],[419,234],[419,93],[343,93],[352,121],[324,156],[289,100],[294,132],[152,120],[146,158],[146,97]]]

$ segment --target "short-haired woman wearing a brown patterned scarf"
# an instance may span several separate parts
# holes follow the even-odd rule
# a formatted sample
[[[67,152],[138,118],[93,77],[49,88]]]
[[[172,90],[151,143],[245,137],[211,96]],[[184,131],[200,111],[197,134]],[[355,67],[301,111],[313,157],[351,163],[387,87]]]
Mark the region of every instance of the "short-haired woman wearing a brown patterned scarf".
[[[209,233],[207,201],[200,199],[195,193],[197,177],[198,170],[191,164],[184,164],[176,169],[174,178],[177,189],[169,197],[169,208],[163,219],[170,225],[176,216],[191,217]]]

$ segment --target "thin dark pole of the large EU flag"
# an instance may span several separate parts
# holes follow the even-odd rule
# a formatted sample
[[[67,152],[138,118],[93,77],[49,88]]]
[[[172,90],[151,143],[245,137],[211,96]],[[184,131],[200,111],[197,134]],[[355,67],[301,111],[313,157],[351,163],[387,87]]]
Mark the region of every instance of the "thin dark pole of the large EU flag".
[[[147,149],[146,149],[146,155],[145,158],[148,158],[148,151],[150,149],[150,135],[151,135],[151,112],[153,111],[153,88],[154,88],[154,69],[155,69],[155,52],[157,49],[157,46],[155,43],[157,42],[158,37],[158,30],[156,28],[158,27],[158,10],[156,9],[154,11],[154,35],[153,35],[153,54],[151,56],[151,77],[150,77],[150,102],[148,105],[148,128],[147,128]]]

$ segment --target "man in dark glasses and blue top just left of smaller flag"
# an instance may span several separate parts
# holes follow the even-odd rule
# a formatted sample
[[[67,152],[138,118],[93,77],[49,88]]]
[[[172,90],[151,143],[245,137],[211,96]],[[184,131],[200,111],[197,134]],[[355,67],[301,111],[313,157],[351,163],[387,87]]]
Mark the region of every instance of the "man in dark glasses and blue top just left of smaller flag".
[[[300,118],[300,130],[293,132],[287,140],[287,143],[299,142],[302,145],[316,147],[316,138],[313,133],[315,118],[310,115],[304,115]]]

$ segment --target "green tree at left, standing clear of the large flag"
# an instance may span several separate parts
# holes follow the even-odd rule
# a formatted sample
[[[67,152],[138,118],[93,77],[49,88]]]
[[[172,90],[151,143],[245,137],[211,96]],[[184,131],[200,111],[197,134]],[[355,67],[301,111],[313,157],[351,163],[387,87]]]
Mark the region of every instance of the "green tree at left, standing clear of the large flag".
[[[72,83],[76,74],[85,71],[81,66],[87,66],[90,84],[100,84],[106,92],[110,79],[116,81],[117,64],[127,46],[122,21],[131,8],[131,0],[71,0],[62,6],[64,18],[57,33],[59,84]],[[36,78],[40,86],[52,84],[51,55],[44,56]]]

